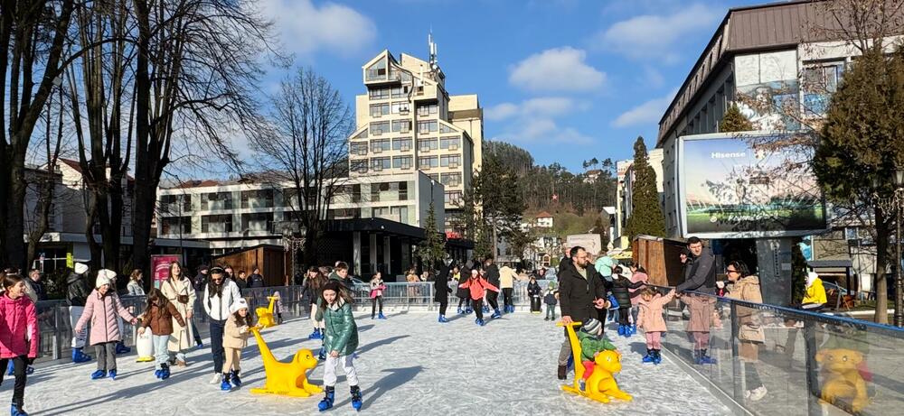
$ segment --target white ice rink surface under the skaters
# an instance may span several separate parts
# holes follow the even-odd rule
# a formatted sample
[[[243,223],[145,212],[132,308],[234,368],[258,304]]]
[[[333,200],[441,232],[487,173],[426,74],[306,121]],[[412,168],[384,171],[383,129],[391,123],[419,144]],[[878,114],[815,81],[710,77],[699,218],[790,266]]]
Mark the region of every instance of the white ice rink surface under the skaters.
[[[485,327],[474,316],[453,316],[438,324],[428,312],[391,313],[388,320],[358,316],[361,346],[355,365],[363,390],[363,413],[385,415],[576,415],[576,414],[730,414],[711,394],[664,356],[658,366],[642,365],[644,338],[613,337],[623,353],[617,375],[622,390],[634,402],[602,404],[563,393],[556,380],[556,356],[561,328],[526,312],[491,320]],[[614,335],[608,324],[607,334]],[[309,321],[293,319],[264,331],[274,354],[284,361],[298,348],[316,350],[308,340]],[[205,339],[206,342],[206,339]],[[207,345],[205,344],[205,347]],[[86,348],[88,349],[88,348]],[[93,350],[92,356],[93,356]],[[209,348],[193,351],[189,366],[174,368],[169,380],[158,381],[152,363],[136,363],[135,350],[118,359],[118,380],[92,381],[95,362],[36,366],[25,388],[25,410],[35,415],[276,415],[316,414],[321,397],[296,399],[260,396],[250,387],[263,384],[264,372],[253,337],[244,350],[244,385],[231,393],[212,376]],[[321,384],[323,367],[311,375]],[[341,370],[340,370],[341,372]],[[4,400],[13,381],[0,387]],[[326,414],[353,413],[348,385],[340,377],[335,407]]]

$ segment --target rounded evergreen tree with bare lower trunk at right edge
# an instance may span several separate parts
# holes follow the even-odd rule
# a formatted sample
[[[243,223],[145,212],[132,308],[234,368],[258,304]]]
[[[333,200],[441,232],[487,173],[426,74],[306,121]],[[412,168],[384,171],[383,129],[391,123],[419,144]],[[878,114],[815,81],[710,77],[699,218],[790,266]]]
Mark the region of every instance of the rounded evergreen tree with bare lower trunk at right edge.
[[[878,43],[879,45],[881,44]],[[873,214],[876,270],[890,258],[894,212],[879,199],[890,197],[896,167],[904,166],[904,51],[886,56],[881,47],[864,51],[834,93],[816,145],[813,171],[825,198],[842,204],[862,201]],[[876,197],[879,197],[878,199]],[[885,279],[876,282],[877,323],[887,323]]]

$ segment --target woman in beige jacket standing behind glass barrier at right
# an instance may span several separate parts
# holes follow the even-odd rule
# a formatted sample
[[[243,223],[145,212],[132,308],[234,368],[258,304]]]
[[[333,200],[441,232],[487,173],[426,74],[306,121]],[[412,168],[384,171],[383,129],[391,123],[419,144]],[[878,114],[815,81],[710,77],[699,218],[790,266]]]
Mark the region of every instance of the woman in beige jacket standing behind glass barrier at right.
[[[762,303],[763,295],[759,289],[759,278],[751,275],[747,264],[741,261],[730,262],[725,267],[725,274],[730,286],[728,298],[745,300],[751,303]],[[756,402],[766,396],[766,386],[759,379],[755,364],[759,361],[759,346],[766,340],[760,322],[759,310],[739,306],[738,322],[738,354],[744,363],[744,380],[747,388],[744,398]]]

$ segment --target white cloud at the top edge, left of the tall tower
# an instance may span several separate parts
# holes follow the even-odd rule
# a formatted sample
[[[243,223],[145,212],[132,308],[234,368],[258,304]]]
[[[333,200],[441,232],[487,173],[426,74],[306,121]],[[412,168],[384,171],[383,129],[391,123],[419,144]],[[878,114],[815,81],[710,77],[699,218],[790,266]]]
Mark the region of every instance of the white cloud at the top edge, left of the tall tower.
[[[263,0],[264,15],[273,19],[287,51],[309,55],[331,51],[350,56],[370,46],[377,35],[373,21],[346,5],[311,0]]]

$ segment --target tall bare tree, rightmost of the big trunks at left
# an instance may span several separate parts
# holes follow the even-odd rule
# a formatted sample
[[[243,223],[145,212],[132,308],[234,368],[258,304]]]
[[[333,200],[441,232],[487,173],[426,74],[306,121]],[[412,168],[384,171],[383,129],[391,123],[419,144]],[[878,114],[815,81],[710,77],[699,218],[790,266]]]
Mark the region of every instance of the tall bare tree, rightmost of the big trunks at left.
[[[178,141],[238,165],[223,125],[256,121],[270,24],[248,2],[134,0],[135,215],[132,260],[147,270],[156,189]],[[189,147],[189,146],[185,146]]]

